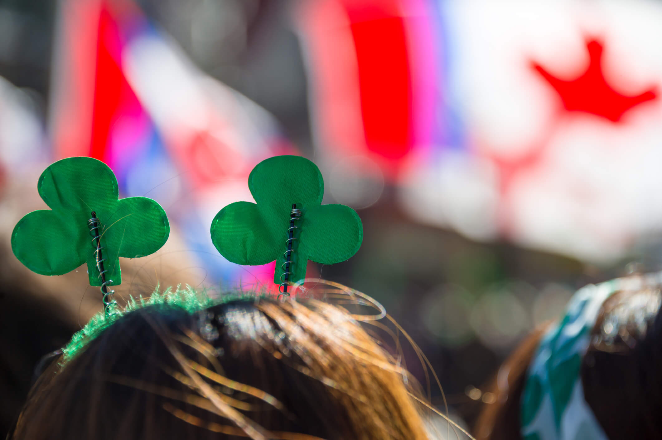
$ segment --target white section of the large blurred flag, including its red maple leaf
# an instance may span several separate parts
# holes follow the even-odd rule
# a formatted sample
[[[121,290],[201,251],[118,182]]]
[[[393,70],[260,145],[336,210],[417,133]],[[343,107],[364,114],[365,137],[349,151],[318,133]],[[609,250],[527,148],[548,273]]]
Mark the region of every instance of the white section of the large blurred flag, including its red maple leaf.
[[[440,3],[462,141],[414,161],[419,221],[608,263],[662,233],[662,3]]]

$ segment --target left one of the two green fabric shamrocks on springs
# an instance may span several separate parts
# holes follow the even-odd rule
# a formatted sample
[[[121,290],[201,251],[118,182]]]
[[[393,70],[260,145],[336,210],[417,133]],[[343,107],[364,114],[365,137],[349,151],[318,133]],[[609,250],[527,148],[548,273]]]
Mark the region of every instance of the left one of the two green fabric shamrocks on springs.
[[[11,235],[11,248],[28,269],[62,275],[87,262],[90,285],[101,285],[87,221],[95,211],[101,222],[101,255],[109,285],[122,282],[118,257],[152,254],[167,240],[166,212],[154,200],[118,200],[111,168],[91,157],[70,157],[46,168],[37,184],[52,209],[25,215]]]

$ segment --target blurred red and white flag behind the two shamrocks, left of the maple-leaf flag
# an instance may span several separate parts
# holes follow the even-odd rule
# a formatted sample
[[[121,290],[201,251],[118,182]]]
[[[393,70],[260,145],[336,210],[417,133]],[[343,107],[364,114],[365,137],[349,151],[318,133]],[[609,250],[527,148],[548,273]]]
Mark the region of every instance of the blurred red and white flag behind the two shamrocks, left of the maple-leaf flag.
[[[132,1],[63,0],[59,15],[50,109],[56,157],[96,157],[126,196],[161,203],[209,280],[254,282],[260,268],[220,257],[209,225],[227,203],[252,200],[246,182],[254,165],[293,151],[273,118],[199,71]]]

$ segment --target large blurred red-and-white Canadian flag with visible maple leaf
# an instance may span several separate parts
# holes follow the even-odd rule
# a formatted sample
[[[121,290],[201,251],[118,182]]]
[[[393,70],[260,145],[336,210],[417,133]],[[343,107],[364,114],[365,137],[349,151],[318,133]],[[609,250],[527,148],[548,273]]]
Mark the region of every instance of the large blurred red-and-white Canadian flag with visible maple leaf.
[[[334,197],[381,173],[419,221],[592,262],[662,232],[661,3],[297,5]]]

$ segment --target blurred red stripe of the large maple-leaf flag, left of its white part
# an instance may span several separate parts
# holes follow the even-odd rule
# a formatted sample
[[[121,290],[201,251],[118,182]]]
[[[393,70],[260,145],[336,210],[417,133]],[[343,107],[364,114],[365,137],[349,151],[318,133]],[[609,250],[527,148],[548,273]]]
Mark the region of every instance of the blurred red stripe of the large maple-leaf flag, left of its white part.
[[[442,57],[426,0],[316,0],[296,18],[316,142],[332,166],[397,182],[414,150],[440,137]],[[367,166],[365,164],[371,164]],[[375,173],[376,170],[376,173]],[[354,188],[359,190],[360,188]]]

